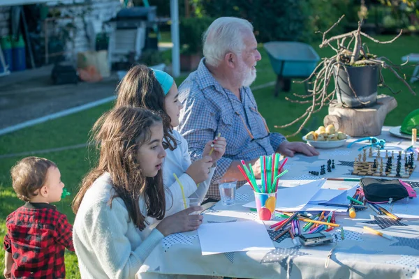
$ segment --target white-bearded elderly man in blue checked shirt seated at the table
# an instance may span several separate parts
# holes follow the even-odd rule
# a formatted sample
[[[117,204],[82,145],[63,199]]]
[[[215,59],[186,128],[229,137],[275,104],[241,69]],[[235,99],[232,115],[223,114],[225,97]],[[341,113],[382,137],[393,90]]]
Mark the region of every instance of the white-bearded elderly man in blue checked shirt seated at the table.
[[[237,186],[243,185],[244,176],[237,168],[240,160],[251,163],[260,178],[259,156],[274,152],[291,157],[296,152],[318,155],[307,144],[288,142],[283,135],[270,133],[259,113],[249,86],[256,79],[256,63],[261,57],[250,22],[220,17],[208,27],[203,43],[204,58],[198,70],[179,86],[184,110],[177,129],[186,138],[192,158],[199,157],[205,142],[219,133],[227,140],[207,197],[219,199],[218,179],[237,179]]]

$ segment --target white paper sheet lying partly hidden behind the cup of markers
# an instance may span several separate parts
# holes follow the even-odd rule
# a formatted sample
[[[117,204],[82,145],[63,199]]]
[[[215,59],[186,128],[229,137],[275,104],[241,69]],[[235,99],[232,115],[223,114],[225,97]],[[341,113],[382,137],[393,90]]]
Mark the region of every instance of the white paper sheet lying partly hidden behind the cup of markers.
[[[325,179],[311,181],[299,186],[285,187],[278,190],[277,206],[279,211],[300,211],[325,183]],[[256,208],[256,202],[249,202],[244,207]]]

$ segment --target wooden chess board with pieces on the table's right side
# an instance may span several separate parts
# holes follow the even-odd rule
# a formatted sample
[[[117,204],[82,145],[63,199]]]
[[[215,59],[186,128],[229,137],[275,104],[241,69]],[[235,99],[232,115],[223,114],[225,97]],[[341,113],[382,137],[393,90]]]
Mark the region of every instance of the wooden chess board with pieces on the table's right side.
[[[407,179],[411,176],[411,173],[416,168],[416,162],[413,161],[413,167],[412,168],[405,168],[404,167],[404,159],[401,160],[401,167],[400,167],[400,175],[396,176],[396,167],[397,167],[397,159],[395,156],[395,160],[392,160],[392,168],[390,169],[390,172],[385,172],[385,162],[387,161],[386,158],[383,158],[383,172],[380,172],[380,160],[377,160],[378,163],[376,163],[376,167],[374,166],[374,159],[378,159],[377,157],[369,157],[365,162],[363,161],[357,161],[353,164],[356,164],[356,170],[355,167],[353,169],[352,174],[358,175],[358,176],[384,176],[384,177],[397,177],[397,178],[404,178]],[[372,160],[372,161],[371,161]]]

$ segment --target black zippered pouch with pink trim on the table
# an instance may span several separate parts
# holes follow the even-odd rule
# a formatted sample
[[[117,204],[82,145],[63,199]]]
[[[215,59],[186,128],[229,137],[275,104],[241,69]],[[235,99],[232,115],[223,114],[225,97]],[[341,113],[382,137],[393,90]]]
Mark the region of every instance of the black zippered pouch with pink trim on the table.
[[[360,186],[364,190],[367,202],[381,203],[397,201],[404,197],[416,196],[415,190],[406,183],[401,183],[399,179],[372,179],[365,178],[360,180]],[[413,193],[410,193],[413,191]]]

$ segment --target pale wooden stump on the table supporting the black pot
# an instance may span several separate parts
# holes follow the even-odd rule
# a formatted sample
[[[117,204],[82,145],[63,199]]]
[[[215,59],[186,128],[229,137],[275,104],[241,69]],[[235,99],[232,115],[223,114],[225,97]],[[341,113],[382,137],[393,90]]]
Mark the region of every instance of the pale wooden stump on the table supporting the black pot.
[[[329,114],[325,116],[325,126],[333,124],[339,130],[351,137],[371,137],[381,134],[385,116],[397,107],[395,98],[378,95],[377,103],[366,108],[341,107],[337,100],[329,105]]]

